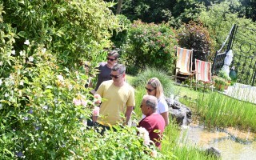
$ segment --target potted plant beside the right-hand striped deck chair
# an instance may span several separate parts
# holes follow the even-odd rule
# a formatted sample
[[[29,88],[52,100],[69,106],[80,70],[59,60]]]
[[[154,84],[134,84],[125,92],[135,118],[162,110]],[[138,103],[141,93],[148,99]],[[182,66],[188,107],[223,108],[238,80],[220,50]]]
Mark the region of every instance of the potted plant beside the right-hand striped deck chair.
[[[218,76],[214,76],[214,82],[217,90],[226,90],[230,86],[231,78],[224,70],[220,70]]]

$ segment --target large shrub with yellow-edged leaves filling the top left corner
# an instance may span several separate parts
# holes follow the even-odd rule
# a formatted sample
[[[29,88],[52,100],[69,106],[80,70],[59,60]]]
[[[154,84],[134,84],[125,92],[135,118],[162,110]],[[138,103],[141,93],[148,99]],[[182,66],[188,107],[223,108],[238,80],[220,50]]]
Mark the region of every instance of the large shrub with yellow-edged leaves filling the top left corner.
[[[4,20],[14,26],[20,37],[14,48],[29,38],[45,44],[66,66],[84,60],[96,65],[102,60],[100,50],[110,46],[111,31],[118,28],[118,19],[108,6],[100,0],[8,0],[4,2]]]

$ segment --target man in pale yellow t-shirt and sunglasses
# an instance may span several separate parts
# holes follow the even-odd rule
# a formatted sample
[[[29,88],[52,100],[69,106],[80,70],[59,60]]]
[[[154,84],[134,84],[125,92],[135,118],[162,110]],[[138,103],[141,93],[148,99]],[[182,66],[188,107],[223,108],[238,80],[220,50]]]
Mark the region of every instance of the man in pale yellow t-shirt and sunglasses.
[[[112,80],[102,82],[95,93],[106,99],[100,106],[100,117],[96,122],[96,126],[102,126],[101,134],[109,130],[110,126],[127,124],[135,106],[134,88],[125,82],[126,67],[122,64],[114,65],[110,76]]]

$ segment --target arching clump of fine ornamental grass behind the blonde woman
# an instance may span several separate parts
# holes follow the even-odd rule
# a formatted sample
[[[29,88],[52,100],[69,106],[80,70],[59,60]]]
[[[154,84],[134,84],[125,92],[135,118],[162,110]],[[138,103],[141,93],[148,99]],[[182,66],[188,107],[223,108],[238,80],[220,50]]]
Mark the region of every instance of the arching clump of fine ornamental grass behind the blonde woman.
[[[144,89],[144,87],[146,86],[146,82],[150,78],[159,79],[159,81],[162,83],[162,88],[166,97],[170,97],[170,94],[176,94],[174,90],[174,84],[170,80],[170,77],[166,74],[166,72],[155,68],[146,68],[146,70],[144,70],[141,74],[138,74],[136,78],[132,80],[131,84],[134,87],[142,86],[142,88]]]

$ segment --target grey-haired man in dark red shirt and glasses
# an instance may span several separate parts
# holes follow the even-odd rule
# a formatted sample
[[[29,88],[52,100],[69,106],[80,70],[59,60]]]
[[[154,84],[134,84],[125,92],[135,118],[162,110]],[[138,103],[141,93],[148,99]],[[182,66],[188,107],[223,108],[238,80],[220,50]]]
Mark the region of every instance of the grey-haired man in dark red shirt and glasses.
[[[156,113],[158,109],[158,98],[152,95],[144,95],[141,104],[142,114],[146,115],[139,123],[138,127],[144,127],[158,149],[161,149],[162,133],[166,122],[162,115]]]

